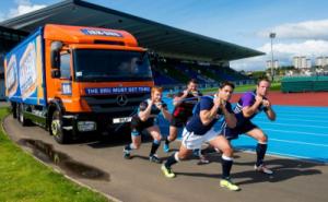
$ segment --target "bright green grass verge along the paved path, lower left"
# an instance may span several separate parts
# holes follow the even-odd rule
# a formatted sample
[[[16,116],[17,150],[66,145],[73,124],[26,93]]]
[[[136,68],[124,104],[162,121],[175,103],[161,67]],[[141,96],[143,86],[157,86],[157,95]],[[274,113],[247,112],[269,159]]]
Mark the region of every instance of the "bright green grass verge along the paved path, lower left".
[[[0,108],[0,201],[108,201],[54,171],[13,144],[2,130],[8,108]]]

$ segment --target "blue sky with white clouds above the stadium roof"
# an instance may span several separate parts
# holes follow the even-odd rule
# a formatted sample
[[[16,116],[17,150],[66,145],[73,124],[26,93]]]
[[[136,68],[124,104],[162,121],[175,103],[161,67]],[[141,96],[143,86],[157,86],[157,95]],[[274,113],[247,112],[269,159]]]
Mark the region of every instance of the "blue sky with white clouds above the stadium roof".
[[[1,0],[0,21],[60,0]],[[328,57],[327,0],[89,0],[89,2],[266,52],[235,60],[235,70],[265,70],[273,58],[292,66],[292,58]]]

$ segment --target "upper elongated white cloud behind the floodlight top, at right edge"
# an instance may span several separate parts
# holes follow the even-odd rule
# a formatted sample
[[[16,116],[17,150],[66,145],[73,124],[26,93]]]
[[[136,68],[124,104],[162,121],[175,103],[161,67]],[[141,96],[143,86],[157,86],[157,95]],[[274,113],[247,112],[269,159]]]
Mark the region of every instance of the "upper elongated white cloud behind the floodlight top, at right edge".
[[[268,38],[271,32],[277,33],[277,38],[328,39],[328,19],[282,24],[261,31],[258,35]]]

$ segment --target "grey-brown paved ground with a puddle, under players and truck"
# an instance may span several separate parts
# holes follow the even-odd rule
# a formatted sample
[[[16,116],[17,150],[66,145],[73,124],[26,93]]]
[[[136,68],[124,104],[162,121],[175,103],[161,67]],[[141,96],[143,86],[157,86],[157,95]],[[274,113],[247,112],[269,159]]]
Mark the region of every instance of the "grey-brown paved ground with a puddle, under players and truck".
[[[253,170],[254,154],[239,152],[235,154],[232,173],[243,190],[232,192],[219,186],[221,165],[216,154],[210,156],[213,162],[209,165],[197,165],[197,159],[184,162],[174,167],[177,178],[166,179],[160,165],[147,158],[150,143],[126,161],[121,157],[122,141],[59,145],[45,130],[22,128],[11,117],[4,120],[4,129],[12,140],[35,155],[43,156],[39,150],[46,151],[57,163],[52,165],[61,167],[65,174],[121,201],[328,201],[328,167],[324,165],[268,156],[267,164],[276,171],[268,177]],[[31,145],[38,150],[32,150]],[[159,155],[166,156],[162,147]]]

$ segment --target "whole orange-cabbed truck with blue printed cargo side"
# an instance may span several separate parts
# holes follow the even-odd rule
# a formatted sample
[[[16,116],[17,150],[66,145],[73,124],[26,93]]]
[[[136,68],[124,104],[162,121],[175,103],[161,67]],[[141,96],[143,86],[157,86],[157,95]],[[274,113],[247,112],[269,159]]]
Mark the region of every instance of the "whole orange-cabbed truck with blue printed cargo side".
[[[154,85],[147,49],[125,31],[47,24],[7,54],[13,117],[59,143],[131,120]]]

